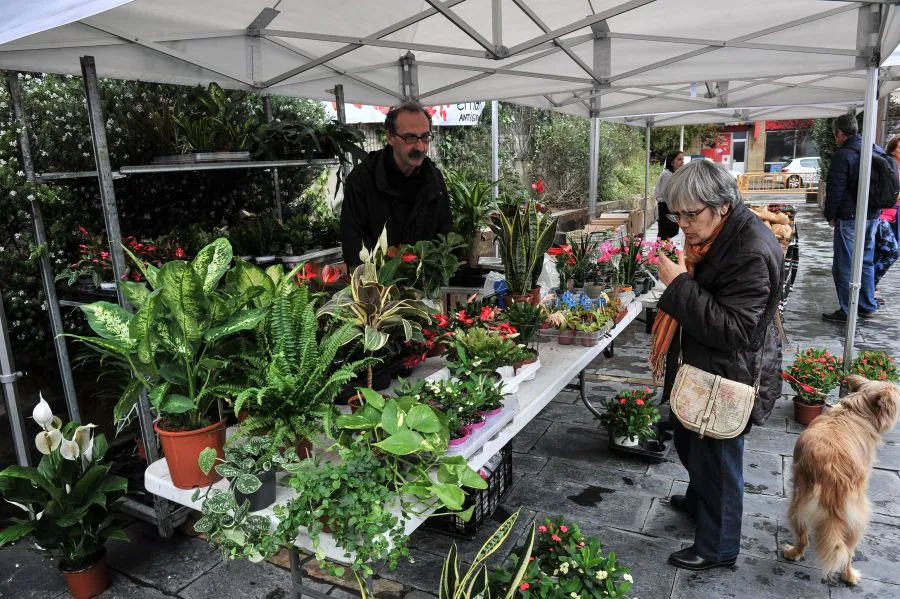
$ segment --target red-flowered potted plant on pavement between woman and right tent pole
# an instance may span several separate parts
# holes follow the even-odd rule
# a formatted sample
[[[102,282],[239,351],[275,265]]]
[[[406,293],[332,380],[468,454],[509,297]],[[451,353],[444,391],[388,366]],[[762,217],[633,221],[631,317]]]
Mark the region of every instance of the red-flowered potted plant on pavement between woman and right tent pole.
[[[807,425],[822,413],[825,398],[841,384],[839,356],[828,350],[809,348],[797,354],[785,371],[784,378],[797,394],[794,397],[794,420]]]

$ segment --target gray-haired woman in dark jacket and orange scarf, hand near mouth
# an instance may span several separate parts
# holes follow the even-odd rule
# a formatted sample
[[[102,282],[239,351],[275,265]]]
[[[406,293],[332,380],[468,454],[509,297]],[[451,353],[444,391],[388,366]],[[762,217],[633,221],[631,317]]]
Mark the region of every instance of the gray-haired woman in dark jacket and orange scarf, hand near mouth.
[[[666,200],[670,220],[684,231],[685,253],[677,263],[660,255],[667,288],[650,361],[655,377],[665,372],[663,400],[672,391],[680,354],[685,364],[712,374],[758,382],[752,423],[762,424],[781,395],[781,339],[773,324],[781,246],[744,205],[731,174],[711,161],[691,162],[673,174]],[[695,519],[697,530],[694,545],[673,553],[669,563],[689,570],[731,565],[740,551],[744,437],[700,438],[680,422],[673,427],[690,484],[686,495],[669,501]]]

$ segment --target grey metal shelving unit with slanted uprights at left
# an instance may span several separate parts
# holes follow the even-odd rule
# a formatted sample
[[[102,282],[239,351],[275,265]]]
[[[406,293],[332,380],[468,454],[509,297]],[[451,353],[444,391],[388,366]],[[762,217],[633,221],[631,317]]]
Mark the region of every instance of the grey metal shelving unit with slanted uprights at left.
[[[128,176],[137,176],[143,174],[154,173],[173,173],[186,171],[214,171],[214,170],[235,170],[235,169],[272,169],[273,185],[275,186],[275,210],[276,214],[281,214],[281,199],[279,197],[279,186],[277,179],[278,168],[292,167],[318,167],[318,166],[334,166],[340,161],[337,158],[328,159],[311,159],[311,160],[268,160],[268,161],[223,161],[223,162],[198,162],[188,164],[151,164],[151,165],[131,165],[122,166],[119,170],[114,171],[109,162],[109,147],[106,141],[106,126],[103,118],[102,105],[100,103],[100,90],[97,83],[97,71],[92,56],[84,56],[81,58],[81,71],[84,80],[85,95],[87,98],[88,120],[91,127],[91,139],[93,142],[94,162],[96,170],[93,171],[75,171],[75,172],[51,172],[40,173],[34,172],[34,163],[32,161],[31,147],[27,132],[27,122],[22,104],[19,82],[15,75],[7,78],[7,86],[12,99],[13,113],[15,115],[19,129],[19,149],[22,156],[22,170],[25,172],[26,180],[32,183],[49,183],[54,181],[65,181],[72,179],[96,178],[100,186],[100,198],[103,209],[103,218],[106,225],[107,238],[110,246],[110,258],[113,267],[113,276],[115,280],[121,280],[125,273],[125,256],[122,251],[122,234],[119,226],[119,213],[116,206],[115,189],[113,181]],[[338,86],[340,87],[340,86]],[[340,90],[341,93],[342,90]],[[46,244],[47,236],[44,229],[43,217],[41,215],[40,202],[36,199],[31,201],[32,221],[34,224],[35,241],[38,244]],[[312,252],[313,254],[333,255],[333,250],[321,250]],[[317,256],[318,257],[318,256]],[[56,295],[56,287],[54,281],[53,266],[49,257],[45,256],[40,263],[41,279],[44,287],[44,293],[47,297],[48,311],[50,313],[51,329],[53,332],[54,343],[56,348],[57,361],[63,380],[63,390],[66,398],[66,406],[71,420],[80,421],[78,409],[78,400],[75,395],[75,385],[72,378],[72,369],[69,362],[68,349],[65,339],[62,337],[63,324],[60,307],[77,307],[83,305],[74,299],[59,300]],[[119,305],[126,310],[131,307],[122,295],[120,289],[116,289],[115,297]],[[109,294],[112,299],[112,294]],[[2,306],[0,306],[2,308]],[[0,319],[0,340],[6,343],[0,343],[0,384],[3,384],[7,395],[7,403],[11,406],[10,414],[18,414],[19,417],[11,418],[11,426],[13,429],[13,438],[16,440],[16,449],[18,459],[21,463],[28,462],[27,448],[24,447],[24,422],[22,422],[21,411],[19,410],[19,402],[16,396],[15,380],[21,376],[20,373],[13,372],[12,352],[8,344],[8,335],[5,319]],[[9,372],[6,372],[9,370]],[[150,402],[146,391],[140,394],[138,399],[138,421],[140,425],[141,437],[145,440],[147,451],[147,463],[151,464],[159,459],[159,451],[157,448],[156,433],[153,430],[153,417],[150,412]],[[19,445],[22,445],[20,448]],[[173,510],[172,505],[159,496],[154,496],[153,505],[148,506],[131,497],[124,497],[120,500],[120,506],[123,511],[132,516],[141,518],[148,522],[156,524],[160,534],[163,537],[170,537],[174,533],[174,527],[185,520],[190,510],[178,508]]]

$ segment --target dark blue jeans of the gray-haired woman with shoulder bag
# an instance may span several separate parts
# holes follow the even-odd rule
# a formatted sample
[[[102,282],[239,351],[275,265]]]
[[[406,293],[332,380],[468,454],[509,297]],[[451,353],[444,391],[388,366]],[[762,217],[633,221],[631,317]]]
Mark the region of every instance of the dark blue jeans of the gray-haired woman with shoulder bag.
[[[688,509],[694,515],[694,553],[720,562],[741,550],[744,509],[744,436],[700,438],[674,423],[675,450],[690,475]]]

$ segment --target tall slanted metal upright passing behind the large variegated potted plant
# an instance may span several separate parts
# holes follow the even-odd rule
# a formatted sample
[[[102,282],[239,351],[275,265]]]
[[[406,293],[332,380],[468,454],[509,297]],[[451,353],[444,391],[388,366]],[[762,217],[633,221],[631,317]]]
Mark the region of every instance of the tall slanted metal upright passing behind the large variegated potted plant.
[[[100,85],[97,82],[97,67],[93,56],[81,57],[81,75],[84,80],[84,91],[87,97],[88,121],[91,126],[91,141],[94,146],[94,163],[97,165],[97,179],[100,183],[100,200],[103,207],[103,220],[106,224],[106,236],[109,240],[109,253],[112,258],[115,280],[121,281],[125,274],[125,252],[122,251],[122,232],[119,228],[119,209],[116,206],[116,190],[113,187],[112,167],[109,163],[109,146],[106,143],[106,121],[103,119],[103,106],[100,103]],[[126,310],[130,306],[122,295],[122,289],[116,286],[119,305]],[[153,414],[150,412],[150,399],[147,391],[138,395],[138,422],[141,438],[147,450],[147,463],[159,459],[156,432],[153,430]],[[156,526],[160,535],[165,538],[173,533],[169,502],[159,495],[153,496],[153,507],[156,512]]]

